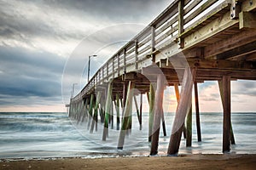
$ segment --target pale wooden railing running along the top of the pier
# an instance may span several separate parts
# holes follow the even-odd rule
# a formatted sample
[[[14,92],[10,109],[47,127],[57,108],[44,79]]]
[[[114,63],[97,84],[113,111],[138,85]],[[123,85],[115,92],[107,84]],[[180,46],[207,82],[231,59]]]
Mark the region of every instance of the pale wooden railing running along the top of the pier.
[[[196,27],[207,25],[207,19],[223,9],[230,10],[232,0],[175,0],[143,31],[120,48],[102,65],[90,81],[72,101],[83,98],[90,90],[111,78],[131,71],[139,71],[154,62],[154,55],[174,47],[181,50],[183,37],[193,33]],[[232,16],[231,16],[232,17]]]

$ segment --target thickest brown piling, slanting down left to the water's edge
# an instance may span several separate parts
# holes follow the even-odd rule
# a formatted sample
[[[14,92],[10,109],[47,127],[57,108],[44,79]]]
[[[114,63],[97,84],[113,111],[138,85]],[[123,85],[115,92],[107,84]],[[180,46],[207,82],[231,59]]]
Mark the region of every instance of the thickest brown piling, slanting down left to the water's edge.
[[[177,105],[177,111],[172,125],[172,135],[167,150],[168,155],[177,155],[183,131],[183,123],[185,120],[185,116],[189,113],[189,109],[191,106],[191,95],[194,77],[195,69],[192,69],[192,71],[190,71],[189,67],[186,68],[183,76],[183,85],[180,99]]]

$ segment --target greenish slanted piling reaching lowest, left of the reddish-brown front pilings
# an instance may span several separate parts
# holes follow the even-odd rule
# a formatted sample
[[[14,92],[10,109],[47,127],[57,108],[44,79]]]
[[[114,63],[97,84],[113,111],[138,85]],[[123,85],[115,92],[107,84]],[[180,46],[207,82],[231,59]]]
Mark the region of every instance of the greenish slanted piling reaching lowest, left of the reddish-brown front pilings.
[[[129,127],[129,119],[130,119],[131,109],[132,109],[133,88],[134,88],[134,82],[130,81],[128,85],[127,99],[125,102],[125,111],[124,111],[122,127],[119,133],[119,143],[117,147],[118,150],[123,150],[123,147],[125,144],[125,133],[127,128]]]

